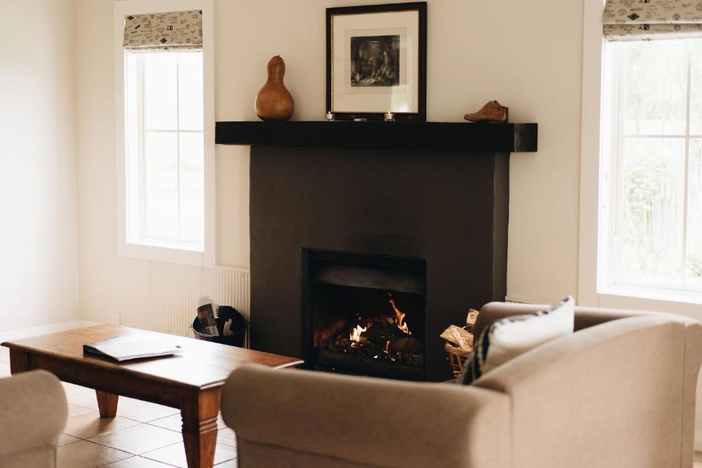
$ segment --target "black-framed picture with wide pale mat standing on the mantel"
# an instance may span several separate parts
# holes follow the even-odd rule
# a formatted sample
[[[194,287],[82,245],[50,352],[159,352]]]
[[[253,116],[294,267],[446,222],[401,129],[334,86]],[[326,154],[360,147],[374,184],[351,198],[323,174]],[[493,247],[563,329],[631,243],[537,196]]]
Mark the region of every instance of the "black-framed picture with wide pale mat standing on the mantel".
[[[427,3],[326,9],[326,109],[426,120]]]

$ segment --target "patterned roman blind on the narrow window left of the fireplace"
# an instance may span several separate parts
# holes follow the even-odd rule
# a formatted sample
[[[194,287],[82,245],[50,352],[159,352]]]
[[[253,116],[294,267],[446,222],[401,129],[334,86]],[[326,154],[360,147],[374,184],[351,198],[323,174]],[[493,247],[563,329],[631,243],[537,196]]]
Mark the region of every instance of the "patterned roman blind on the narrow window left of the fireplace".
[[[202,48],[202,12],[193,10],[127,16],[124,48],[129,51]]]

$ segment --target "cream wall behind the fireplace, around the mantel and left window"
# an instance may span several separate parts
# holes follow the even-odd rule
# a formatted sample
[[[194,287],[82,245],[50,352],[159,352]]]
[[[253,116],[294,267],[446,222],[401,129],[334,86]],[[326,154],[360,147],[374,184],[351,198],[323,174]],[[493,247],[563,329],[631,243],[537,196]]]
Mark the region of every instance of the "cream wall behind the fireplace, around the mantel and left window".
[[[293,119],[324,115],[324,9],[369,0],[216,1],[216,119],[256,119],[273,55]],[[536,154],[511,163],[508,295],[576,293],[582,0],[430,0],[428,119],[461,121],[497,99],[538,122]],[[112,1],[76,0],[81,314],[148,326],[152,264],[116,253]],[[548,31],[548,34],[546,33]],[[218,262],[249,267],[249,149],[218,146]]]

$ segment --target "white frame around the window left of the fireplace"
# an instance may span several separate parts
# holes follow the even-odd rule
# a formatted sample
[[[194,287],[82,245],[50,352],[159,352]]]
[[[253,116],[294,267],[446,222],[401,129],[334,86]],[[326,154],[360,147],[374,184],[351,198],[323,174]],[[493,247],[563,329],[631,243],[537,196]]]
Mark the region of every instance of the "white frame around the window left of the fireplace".
[[[166,248],[127,241],[125,155],[125,57],[124,18],[127,15],[166,11],[202,11],[202,64],[204,99],[204,251]],[[215,177],[215,73],[213,0],[121,0],[114,2],[114,104],[117,159],[117,254],[157,262],[213,267],[216,265],[216,177]]]

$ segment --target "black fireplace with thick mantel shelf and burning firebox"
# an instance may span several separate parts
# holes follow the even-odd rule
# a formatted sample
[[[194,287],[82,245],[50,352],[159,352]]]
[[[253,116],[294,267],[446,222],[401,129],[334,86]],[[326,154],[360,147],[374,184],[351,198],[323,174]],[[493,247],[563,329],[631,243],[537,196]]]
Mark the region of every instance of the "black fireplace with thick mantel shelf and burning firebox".
[[[468,309],[505,298],[509,156],[536,150],[536,125],[525,124],[531,125],[529,145],[520,148],[516,126],[511,142],[486,142],[480,140],[480,128],[493,138],[504,127],[445,124],[468,128],[479,149],[466,151],[446,149],[441,140],[437,149],[397,148],[392,142],[379,142],[380,148],[349,147],[348,142],[317,147],[314,135],[305,142],[285,123],[237,124],[218,123],[216,141],[246,144],[247,128],[262,138],[250,141],[251,347],[302,357],[308,368],[409,380],[448,378],[439,335],[452,323],[464,323]],[[353,131],[357,135],[358,127]],[[294,141],[286,141],[286,135]],[[470,141],[450,143],[470,146]],[[412,281],[416,286],[402,286]],[[359,288],[367,291],[359,296]],[[338,297],[330,299],[335,291]],[[372,297],[382,307],[362,306]],[[347,328],[356,325],[348,311],[380,307],[392,318],[386,299],[393,297],[399,309],[409,311],[410,329],[417,330],[411,351],[396,352],[392,359],[386,355],[385,361],[376,358],[383,361],[378,371],[366,372],[355,363],[338,368],[339,352],[357,352],[345,339]],[[340,306],[329,306],[336,303]],[[315,332],[322,309],[341,314],[336,341],[331,332],[326,341]],[[373,352],[366,354],[373,359]],[[386,374],[383,366],[390,361],[399,366],[388,367]]]

